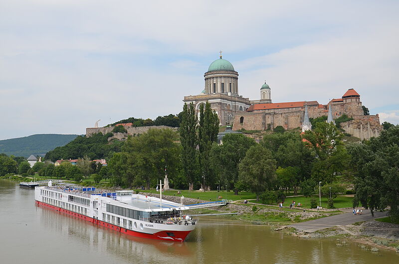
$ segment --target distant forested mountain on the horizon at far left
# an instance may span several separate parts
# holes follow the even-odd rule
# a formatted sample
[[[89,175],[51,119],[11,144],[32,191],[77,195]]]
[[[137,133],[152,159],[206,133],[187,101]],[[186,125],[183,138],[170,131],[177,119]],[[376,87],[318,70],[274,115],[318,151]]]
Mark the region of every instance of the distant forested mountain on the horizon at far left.
[[[28,157],[29,155],[44,156],[47,151],[63,146],[78,135],[35,134],[25,137],[0,140],[0,153]]]

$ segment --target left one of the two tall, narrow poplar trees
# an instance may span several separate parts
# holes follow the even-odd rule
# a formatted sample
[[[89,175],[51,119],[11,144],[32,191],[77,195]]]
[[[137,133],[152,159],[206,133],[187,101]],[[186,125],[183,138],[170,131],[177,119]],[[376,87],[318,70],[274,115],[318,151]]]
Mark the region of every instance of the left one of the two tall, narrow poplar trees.
[[[198,174],[197,154],[197,116],[193,103],[187,106],[185,103],[182,112],[182,123],[180,124],[180,142],[182,144],[182,166],[183,173],[189,183],[189,190],[194,190],[194,182]]]

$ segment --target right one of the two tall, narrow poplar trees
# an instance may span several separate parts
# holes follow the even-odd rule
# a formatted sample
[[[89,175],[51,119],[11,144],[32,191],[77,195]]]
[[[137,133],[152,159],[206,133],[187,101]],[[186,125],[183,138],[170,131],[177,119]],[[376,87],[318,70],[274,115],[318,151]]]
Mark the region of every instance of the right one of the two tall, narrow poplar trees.
[[[200,148],[200,173],[201,185],[204,189],[209,189],[214,183],[215,173],[212,171],[210,162],[210,149],[212,143],[217,140],[219,132],[219,118],[217,114],[210,109],[209,102],[206,102],[205,109],[200,105],[200,127],[198,131],[198,144]],[[203,186],[205,184],[205,186]],[[207,187],[207,188],[206,188]]]

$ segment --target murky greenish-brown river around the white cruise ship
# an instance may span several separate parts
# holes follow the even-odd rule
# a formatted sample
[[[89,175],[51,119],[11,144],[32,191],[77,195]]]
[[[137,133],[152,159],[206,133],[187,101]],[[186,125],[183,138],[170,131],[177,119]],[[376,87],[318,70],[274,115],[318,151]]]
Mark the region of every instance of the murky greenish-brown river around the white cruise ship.
[[[184,243],[125,236],[34,204],[34,191],[0,180],[1,263],[398,263],[394,251],[300,239],[265,226],[200,220]],[[337,245],[338,244],[338,245]]]

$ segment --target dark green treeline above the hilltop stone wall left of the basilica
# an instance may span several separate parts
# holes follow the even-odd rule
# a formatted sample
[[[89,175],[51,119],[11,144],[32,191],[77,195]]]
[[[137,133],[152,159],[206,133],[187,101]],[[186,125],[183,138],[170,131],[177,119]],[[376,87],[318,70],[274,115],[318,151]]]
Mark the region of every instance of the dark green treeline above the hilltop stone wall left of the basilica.
[[[181,115],[182,115],[182,113],[180,113],[178,115],[170,114],[168,116],[159,116],[155,120],[152,120],[149,118],[142,119],[142,118],[133,118],[132,117],[132,118],[123,119],[118,122],[109,124],[109,125],[107,125],[107,127],[115,126],[117,124],[132,123],[133,127],[168,126],[168,127],[178,128],[178,127],[180,127]]]

